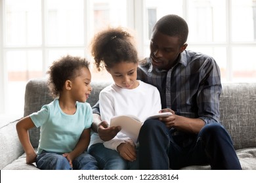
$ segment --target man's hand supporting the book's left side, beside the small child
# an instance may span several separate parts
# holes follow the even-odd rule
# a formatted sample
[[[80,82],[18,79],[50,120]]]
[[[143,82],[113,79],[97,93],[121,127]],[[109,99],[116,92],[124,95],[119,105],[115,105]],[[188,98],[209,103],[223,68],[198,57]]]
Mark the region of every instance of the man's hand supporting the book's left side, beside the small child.
[[[101,122],[98,125],[98,135],[102,141],[110,141],[114,137],[116,137],[117,133],[121,130],[120,126],[112,126],[110,127],[107,122]]]

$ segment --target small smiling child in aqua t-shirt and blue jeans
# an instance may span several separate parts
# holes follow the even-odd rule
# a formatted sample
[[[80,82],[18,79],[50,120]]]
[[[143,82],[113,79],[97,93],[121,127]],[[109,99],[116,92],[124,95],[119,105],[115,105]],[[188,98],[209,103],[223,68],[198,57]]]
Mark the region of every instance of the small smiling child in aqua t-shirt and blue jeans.
[[[26,152],[26,162],[39,169],[98,169],[93,156],[87,154],[93,115],[87,101],[92,88],[89,62],[66,56],[54,61],[48,71],[53,102],[26,116],[16,125]],[[37,154],[28,129],[41,127]]]

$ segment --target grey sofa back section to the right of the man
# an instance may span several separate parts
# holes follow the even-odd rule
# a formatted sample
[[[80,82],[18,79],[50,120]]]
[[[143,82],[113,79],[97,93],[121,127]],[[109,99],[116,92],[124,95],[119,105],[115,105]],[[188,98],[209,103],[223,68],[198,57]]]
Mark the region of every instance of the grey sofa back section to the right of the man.
[[[234,148],[256,147],[256,84],[223,84],[220,98],[221,124]]]

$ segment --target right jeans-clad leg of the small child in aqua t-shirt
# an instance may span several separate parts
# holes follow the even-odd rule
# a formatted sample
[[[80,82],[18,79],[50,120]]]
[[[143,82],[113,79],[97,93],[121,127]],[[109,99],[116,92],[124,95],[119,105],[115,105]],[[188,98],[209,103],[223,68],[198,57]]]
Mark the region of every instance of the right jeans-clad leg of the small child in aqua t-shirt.
[[[72,162],[74,170],[98,170],[98,163],[96,159],[84,152],[75,158]]]

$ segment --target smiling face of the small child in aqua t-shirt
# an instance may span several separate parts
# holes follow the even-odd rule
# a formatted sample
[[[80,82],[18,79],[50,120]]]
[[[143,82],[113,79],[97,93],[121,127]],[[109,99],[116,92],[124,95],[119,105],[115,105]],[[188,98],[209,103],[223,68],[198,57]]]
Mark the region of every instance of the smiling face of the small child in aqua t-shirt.
[[[91,72],[86,67],[79,70],[79,76],[72,80],[72,97],[74,101],[85,103],[91,94]]]

